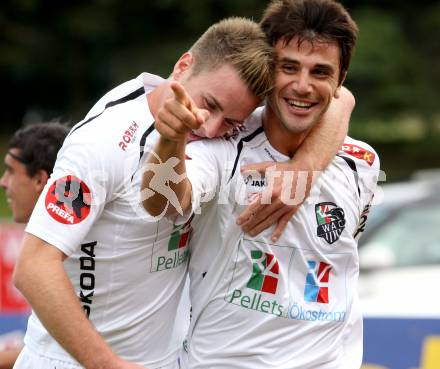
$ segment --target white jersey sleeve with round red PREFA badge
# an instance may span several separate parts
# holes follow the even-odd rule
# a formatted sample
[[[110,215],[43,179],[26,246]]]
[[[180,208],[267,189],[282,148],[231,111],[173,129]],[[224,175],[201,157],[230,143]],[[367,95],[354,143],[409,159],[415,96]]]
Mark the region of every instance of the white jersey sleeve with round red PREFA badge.
[[[69,136],[34,208],[26,232],[57,247],[67,256],[81,245],[115,190],[108,143],[82,131]]]

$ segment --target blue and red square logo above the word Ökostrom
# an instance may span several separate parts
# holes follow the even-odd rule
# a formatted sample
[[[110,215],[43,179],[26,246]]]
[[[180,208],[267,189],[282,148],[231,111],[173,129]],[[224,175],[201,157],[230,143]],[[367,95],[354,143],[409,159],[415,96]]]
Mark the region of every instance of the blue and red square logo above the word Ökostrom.
[[[306,285],[304,288],[304,300],[308,302],[319,302],[328,304],[328,283],[330,279],[330,264],[316,261],[307,261],[309,270],[306,276]]]

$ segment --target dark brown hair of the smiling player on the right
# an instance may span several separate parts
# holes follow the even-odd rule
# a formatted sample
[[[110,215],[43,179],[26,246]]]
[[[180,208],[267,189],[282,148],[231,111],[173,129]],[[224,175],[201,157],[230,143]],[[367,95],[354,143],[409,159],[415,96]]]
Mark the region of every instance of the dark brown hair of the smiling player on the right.
[[[294,37],[299,43],[336,41],[339,45],[339,83],[348,71],[356,44],[358,27],[347,10],[333,0],[274,0],[260,22],[268,42],[286,44]]]

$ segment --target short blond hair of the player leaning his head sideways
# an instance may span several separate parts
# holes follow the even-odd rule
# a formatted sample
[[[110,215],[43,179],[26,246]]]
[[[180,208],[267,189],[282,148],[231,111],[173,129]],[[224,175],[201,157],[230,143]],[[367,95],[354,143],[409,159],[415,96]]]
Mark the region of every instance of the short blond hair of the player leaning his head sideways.
[[[260,26],[250,19],[231,17],[213,24],[190,52],[194,57],[193,74],[229,64],[258,98],[264,98],[272,89],[273,48]]]

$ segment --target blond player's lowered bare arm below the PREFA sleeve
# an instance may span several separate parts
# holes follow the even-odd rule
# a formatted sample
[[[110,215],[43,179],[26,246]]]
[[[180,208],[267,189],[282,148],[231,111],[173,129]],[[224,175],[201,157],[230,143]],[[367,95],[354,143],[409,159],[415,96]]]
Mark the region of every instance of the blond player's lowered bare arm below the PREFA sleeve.
[[[25,234],[15,266],[14,283],[51,336],[88,369],[141,369],[124,362],[87,319],[56,247]]]

